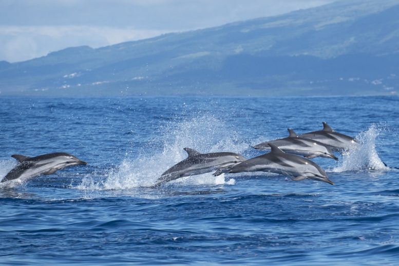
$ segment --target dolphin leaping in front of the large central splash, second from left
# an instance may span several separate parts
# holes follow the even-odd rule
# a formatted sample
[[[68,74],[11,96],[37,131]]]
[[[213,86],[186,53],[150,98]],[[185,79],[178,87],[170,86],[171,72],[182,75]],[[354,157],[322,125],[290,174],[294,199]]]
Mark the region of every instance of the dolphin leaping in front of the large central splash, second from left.
[[[184,150],[188,157],[167,169],[153,187],[181,177],[200,175],[218,168],[230,167],[246,160],[243,156],[235,153],[201,154],[191,148],[184,148]]]

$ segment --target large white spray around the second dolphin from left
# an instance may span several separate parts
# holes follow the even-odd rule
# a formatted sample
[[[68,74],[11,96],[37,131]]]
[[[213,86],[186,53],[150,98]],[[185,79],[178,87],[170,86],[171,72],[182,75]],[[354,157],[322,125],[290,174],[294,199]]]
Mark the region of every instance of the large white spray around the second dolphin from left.
[[[162,151],[157,148],[159,143],[162,143]],[[139,156],[126,158],[118,169],[110,170],[106,180],[96,181],[92,177],[86,177],[76,188],[130,189],[154,185],[165,170],[187,157],[184,147],[194,148],[201,153],[241,153],[248,148],[248,144],[238,138],[232,127],[212,115],[171,122],[162,128],[161,137],[142,148]],[[149,154],[148,151],[153,151],[154,154]],[[225,181],[224,176],[214,177],[212,173],[181,178],[173,182],[181,185],[235,183],[234,179]]]

